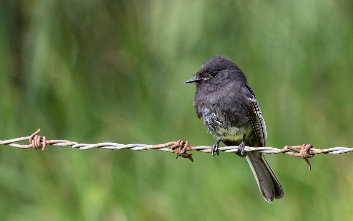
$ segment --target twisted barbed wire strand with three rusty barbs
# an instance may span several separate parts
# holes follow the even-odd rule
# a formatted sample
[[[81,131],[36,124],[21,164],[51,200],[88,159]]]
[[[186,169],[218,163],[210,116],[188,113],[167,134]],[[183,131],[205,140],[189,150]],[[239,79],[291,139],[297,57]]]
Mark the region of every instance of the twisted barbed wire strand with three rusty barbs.
[[[211,146],[191,146],[188,141],[178,140],[172,141],[165,144],[156,144],[156,145],[148,145],[148,144],[117,144],[117,143],[98,143],[98,144],[78,144],[77,142],[72,142],[69,140],[47,140],[45,136],[38,135],[40,133],[40,129],[34,132],[30,136],[24,136],[22,138],[15,138],[11,140],[0,140],[0,145],[8,145],[13,147],[18,147],[21,149],[42,149],[46,148],[46,145],[52,146],[71,146],[72,148],[77,148],[79,150],[89,150],[93,148],[103,148],[110,150],[121,150],[121,149],[130,149],[130,150],[149,150],[156,149],[171,153],[177,154],[177,159],[179,156],[184,158],[189,158],[191,162],[193,162],[193,158],[191,157],[192,153],[188,154],[186,151],[197,150],[200,152],[210,153]],[[29,145],[21,145],[16,144],[19,141],[29,141]],[[167,148],[171,146],[170,148]],[[219,151],[229,152],[229,153],[237,153],[238,146],[225,146],[220,147]],[[287,155],[301,157],[307,163],[309,170],[311,169],[311,165],[309,163],[308,158],[313,157],[315,154],[319,153],[327,153],[327,154],[340,154],[352,152],[352,147],[332,147],[328,149],[315,149],[312,144],[303,144],[299,146],[285,146],[283,149],[277,149],[274,147],[245,147],[245,152],[249,151],[259,151],[262,153],[285,153]],[[293,152],[294,151],[294,152]]]

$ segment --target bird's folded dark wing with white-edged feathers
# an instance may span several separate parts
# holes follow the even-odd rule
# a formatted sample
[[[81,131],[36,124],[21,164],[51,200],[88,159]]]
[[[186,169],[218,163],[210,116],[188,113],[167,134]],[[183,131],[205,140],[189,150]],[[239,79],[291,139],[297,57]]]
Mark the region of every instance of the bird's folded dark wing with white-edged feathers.
[[[262,117],[260,107],[257,103],[254,91],[249,85],[245,85],[245,87],[243,87],[243,91],[245,92],[246,99],[249,100],[249,103],[247,105],[247,112],[249,114],[252,126],[255,130],[259,145],[265,146],[267,139],[266,125],[264,118]]]

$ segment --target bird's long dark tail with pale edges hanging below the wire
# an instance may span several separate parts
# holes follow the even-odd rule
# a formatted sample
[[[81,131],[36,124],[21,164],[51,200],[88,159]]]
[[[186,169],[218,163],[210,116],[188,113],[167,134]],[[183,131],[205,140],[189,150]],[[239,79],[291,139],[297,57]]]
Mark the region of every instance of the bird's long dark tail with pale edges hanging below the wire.
[[[260,152],[247,152],[246,159],[264,199],[271,203],[274,198],[283,198],[280,181],[278,181],[265,155]]]

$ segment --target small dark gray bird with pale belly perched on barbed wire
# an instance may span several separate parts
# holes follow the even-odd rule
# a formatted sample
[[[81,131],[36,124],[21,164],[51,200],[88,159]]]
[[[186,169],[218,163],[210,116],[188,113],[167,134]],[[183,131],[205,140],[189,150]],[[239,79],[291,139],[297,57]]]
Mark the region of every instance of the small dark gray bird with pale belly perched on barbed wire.
[[[238,155],[246,157],[262,196],[267,202],[283,197],[283,189],[266,157],[260,152],[244,152],[245,145],[266,145],[266,126],[255,94],[243,71],[222,56],[208,59],[195,77],[195,110],[209,132],[218,140],[211,153],[219,155],[218,145],[238,146]]]

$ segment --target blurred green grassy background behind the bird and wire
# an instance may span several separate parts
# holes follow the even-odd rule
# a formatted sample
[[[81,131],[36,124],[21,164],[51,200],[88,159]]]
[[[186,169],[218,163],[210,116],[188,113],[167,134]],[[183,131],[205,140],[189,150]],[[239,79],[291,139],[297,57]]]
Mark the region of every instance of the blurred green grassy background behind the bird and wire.
[[[245,72],[267,146],[353,144],[353,4],[0,1],[0,139],[212,145],[184,85],[208,58]],[[21,142],[20,144],[27,144]],[[267,155],[269,204],[245,159],[0,146],[0,220],[353,220],[353,155]]]

